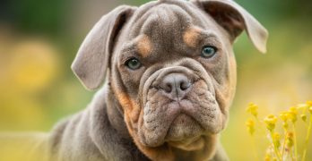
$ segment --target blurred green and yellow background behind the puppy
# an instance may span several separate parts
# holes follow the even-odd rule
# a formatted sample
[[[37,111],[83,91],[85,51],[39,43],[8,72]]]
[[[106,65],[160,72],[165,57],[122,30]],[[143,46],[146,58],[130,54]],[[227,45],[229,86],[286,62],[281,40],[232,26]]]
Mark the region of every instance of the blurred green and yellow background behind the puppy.
[[[145,2],[2,0],[0,131],[49,131],[59,119],[87,106],[94,92],[83,89],[70,70],[82,39],[117,5]],[[236,42],[238,88],[221,140],[231,160],[255,160],[255,150],[262,160],[268,141],[256,135],[256,149],[251,148],[245,109],[255,102],[260,116],[278,114],[312,99],[312,1],[236,2],[269,30],[270,38],[266,55],[256,51],[245,33]],[[305,133],[299,127],[299,137]]]

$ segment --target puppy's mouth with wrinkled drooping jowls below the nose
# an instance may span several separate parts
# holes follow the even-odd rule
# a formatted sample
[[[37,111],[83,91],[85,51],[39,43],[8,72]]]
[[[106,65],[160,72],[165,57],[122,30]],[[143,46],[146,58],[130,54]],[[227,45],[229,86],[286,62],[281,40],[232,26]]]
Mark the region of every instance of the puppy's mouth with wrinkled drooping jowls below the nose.
[[[205,100],[199,103],[190,99],[145,106],[143,126],[139,128],[141,141],[147,147],[168,143],[186,150],[202,148],[204,136],[221,130],[218,108],[217,104]]]

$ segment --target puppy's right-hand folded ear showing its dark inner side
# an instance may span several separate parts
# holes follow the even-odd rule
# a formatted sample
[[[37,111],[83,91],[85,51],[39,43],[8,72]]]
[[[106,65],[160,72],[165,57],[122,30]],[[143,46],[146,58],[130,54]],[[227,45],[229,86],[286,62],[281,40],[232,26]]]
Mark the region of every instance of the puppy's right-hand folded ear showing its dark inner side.
[[[240,5],[231,0],[193,0],[191,2],[210,14],[221,27],[230,33],[233,41],[243,30],[247,30],[247,35],[254,46],[260,52],[266,52],[267,30]]]

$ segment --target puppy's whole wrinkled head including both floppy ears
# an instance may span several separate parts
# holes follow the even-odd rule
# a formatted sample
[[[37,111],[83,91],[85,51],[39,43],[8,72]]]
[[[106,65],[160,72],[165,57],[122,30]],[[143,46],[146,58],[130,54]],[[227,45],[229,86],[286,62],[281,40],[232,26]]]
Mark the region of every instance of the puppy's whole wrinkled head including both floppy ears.
[[[162,0],[103,16],[72,68],[87,89],[108,81],[134,142],[152,158],[213,153],[235,92],[232,51],[243,31],[265,52],[266,30],[229,0]]]

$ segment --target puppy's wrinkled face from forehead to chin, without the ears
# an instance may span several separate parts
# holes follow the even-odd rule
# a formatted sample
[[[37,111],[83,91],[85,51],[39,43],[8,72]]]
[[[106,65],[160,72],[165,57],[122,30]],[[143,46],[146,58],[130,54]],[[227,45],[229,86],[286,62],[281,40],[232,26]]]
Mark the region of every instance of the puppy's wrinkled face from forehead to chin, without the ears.
[[[223,129],[234,92],[236,67],[227,33],[212,18],[200,20],[204,14],[192,6],[180,5],[137,11],[140,16],[129,23],[112,58],[117,64],[110,82],[119,81],[113,89],[122,84],[121,92],[135,105],[122,106],[135,113],[126,120],[146,147],[168,142],[194,150],[194,142],[202,148],[202,137]]]

